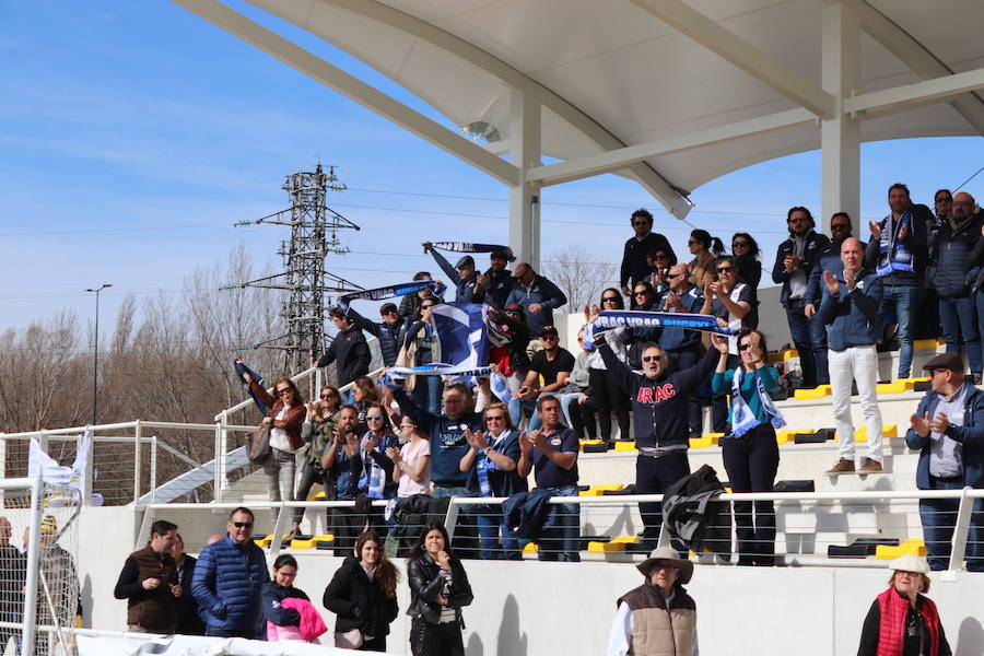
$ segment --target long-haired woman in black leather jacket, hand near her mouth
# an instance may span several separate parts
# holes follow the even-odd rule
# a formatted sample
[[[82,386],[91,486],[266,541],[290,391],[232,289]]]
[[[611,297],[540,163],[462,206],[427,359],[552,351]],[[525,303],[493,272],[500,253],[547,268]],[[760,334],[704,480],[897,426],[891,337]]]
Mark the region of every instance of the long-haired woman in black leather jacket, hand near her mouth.
[[[461,608],[471,604],[472,594],[449,542],[442,524],[429,524],[407,558],[413,656],[465,655]]]

